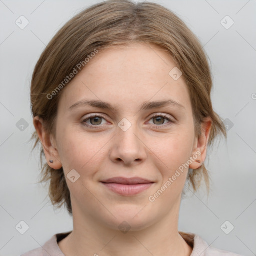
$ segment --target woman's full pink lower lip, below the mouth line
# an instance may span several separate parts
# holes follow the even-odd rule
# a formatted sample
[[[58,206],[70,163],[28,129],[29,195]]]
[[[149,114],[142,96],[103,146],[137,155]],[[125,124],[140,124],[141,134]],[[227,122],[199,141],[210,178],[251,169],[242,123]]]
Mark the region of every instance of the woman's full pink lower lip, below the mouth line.
[[[119,184],[119,183],[103,183],[108,189],[118,193],[120,195],[135,195],[147,188],[149,188],[153,182],[144,184]]]

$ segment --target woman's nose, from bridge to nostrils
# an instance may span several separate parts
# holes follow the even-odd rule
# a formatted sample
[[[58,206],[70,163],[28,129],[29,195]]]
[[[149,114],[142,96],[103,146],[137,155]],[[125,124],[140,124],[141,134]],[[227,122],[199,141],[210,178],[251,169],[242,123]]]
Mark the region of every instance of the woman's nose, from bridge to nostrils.
[[[115,163],[122,162],[125,165],[140,164],[146,159],[146,145],[141,132],[135,124],[127,130],[117,127],[113,137],[110,159]]]

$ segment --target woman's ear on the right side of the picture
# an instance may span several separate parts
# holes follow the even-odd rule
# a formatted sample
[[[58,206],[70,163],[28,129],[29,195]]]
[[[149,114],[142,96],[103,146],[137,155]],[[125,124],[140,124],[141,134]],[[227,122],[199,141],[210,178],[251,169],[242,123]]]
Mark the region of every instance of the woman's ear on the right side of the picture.
[[[189,165],[190,169],[198,169],[206,158],[211,124],[212,120],[210,117],[204,118],[203,122],[201,123],[201,135],[196,137],[194,141],[194,148],[190,157],[192,161],[192,163]]]

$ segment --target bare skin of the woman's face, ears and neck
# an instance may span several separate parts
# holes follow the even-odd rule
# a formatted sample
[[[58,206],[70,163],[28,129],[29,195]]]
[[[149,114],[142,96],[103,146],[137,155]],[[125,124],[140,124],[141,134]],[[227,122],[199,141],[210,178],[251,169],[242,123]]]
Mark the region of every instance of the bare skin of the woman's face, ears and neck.
[[[182,76],[174,80],[169,75],[175,66],[171,56],[151,44],[104,49],[63,89],[55,138],[45,133],[42,119],[34,118],[48,164],[54,169],[62,166],[65,177],[72,169],[80,174],[74,183],[66,178],[73,231],[58,243],[65,255],[191,254],[192,248],[178,233],[188,168],[154,202],[148,200],[189,157],[200,152],[200,163],[189,164],[192,169],[206,157],[211,120],[205,119],[202,134],[196,137],[187,85]],[[69,110],[84,99],[111,103],[116,112],[86,105]],[[163,99],[175,100],[183,108],[139,108],[144,101]],[[92,113],[103,118],[86,119]],[[153,118],[153,113],[174,122]],[[126,131],[118,127],[123,118],[131,124]],[[84,119],[91,128],[84,126]],[[154,183],[137,195],[122,196],[100,183],[116,176],[139,176]],[[118,228],[123,221],[131,227],[127,233]]]

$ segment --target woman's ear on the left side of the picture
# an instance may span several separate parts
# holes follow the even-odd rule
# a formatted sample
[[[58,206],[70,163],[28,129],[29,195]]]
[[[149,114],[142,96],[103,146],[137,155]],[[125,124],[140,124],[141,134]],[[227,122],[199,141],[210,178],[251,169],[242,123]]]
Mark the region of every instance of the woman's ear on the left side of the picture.
[[[52,135],[47,134],[44,129],[43,119],[39,118],[39,116],[35,116],[33,118],[33,124],[38,134],[38,137],[42,143],[47,164],[53,169],[60,169],[62,167],[62,164],[59,160],[60,158],[59,158],[58,150],[54,145],[54,139]],[[53,160],[53,163],[51,163],[49,160]]]

